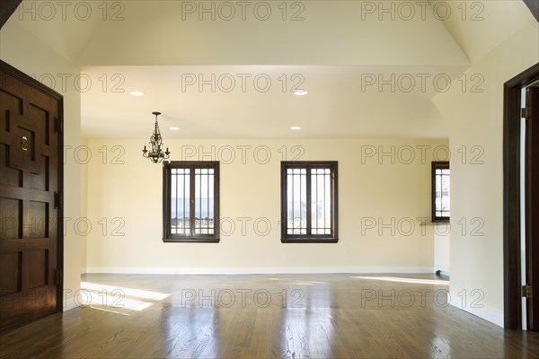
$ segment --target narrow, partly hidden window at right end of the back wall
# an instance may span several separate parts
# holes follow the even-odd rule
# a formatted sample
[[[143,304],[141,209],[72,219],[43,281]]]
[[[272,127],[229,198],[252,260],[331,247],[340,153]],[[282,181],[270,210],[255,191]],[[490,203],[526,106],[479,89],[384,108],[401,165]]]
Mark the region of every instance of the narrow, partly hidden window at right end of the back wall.
[[[432,162],[432,222],[449,222],[449,162]]]

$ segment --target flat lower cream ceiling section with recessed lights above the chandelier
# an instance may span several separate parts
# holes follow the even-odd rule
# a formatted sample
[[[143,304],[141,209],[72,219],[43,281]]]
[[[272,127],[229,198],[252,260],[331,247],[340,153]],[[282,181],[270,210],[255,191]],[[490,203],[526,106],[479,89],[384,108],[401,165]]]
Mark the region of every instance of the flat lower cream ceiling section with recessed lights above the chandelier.
[[[149,136],[151,112],[158,110],[167,138],[444,137],[447,123],[430,98],[457,73],[387,66],[92,67],[84,74],[98,85],[83,95],[83,130],[87,136]],[[95,79],[103,75],[116,75],[110,84],[125,80],[118,88],[124,92],[102,92]],[[390,83],[380,88],[379,76]],[[296,87],[308,94],[294,95]],[[145,96],[133,97],[132,90]]]

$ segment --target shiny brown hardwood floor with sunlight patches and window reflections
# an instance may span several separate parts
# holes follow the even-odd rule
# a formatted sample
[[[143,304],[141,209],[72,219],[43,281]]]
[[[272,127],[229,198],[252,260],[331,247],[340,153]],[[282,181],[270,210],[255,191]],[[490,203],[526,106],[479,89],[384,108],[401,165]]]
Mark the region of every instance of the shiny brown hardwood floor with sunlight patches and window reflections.
[[[448,282],[437,276],[84,275],[82,281],[81,306],[0,337],[0,357],[539,355],[539,333],[506,331],[447,306]]]

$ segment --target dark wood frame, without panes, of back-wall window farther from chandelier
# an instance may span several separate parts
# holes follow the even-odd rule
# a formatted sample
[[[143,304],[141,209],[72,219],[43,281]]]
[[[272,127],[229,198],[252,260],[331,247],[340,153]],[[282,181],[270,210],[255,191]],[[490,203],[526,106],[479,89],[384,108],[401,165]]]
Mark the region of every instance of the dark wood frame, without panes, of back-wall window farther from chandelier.
[[[311,179],[312,169],[331,170],[331,234],[308,234],[312,229],[310,208],[306,206],[306,232],[307,234],[287,233],[287,170],[305,169],[306,171],[306,198],[305,202],[311,202]],[[282,243],[336,243],[338,236],[338,162],[336,161],[306,161],[306,162],[281,162],[281,242]]]

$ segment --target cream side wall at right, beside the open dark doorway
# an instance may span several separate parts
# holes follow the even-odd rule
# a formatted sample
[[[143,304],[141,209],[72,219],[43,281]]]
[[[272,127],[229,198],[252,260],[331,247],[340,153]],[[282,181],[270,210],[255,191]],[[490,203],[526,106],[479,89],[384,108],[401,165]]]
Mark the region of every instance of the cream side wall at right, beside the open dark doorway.
[[[434,99],[451,127],[451,295],[459,308],[499,326],[503,326],[503,83],[539,61],[538,44],[539,24],[533,22],[465,73],[467,78],[482,76],[482,92],[451,86],[450,92]],[[476,160],[482,162],[474,164],[473,156],[479,154]],[[465,230],[462,221],[467,223]],[[484,307],[473,307],[480,296]]]

